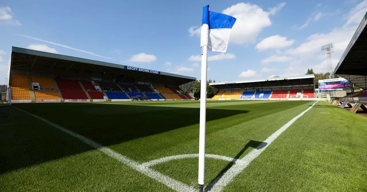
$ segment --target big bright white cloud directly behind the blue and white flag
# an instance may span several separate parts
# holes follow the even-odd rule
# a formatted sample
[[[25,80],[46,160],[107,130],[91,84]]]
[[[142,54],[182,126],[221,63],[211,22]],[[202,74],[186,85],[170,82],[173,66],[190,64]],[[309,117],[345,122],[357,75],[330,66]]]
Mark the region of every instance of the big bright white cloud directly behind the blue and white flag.
[[[286,3],[280,3],[276,7],[269,8],[268,12],[258,5],[250,3],[237,3],[226,8],[222,13],[237,19],[232,27],[229,41],[234,44],[255,42],[260,31],[272,25],[269,15],[276,14],[284,5]],[[200,35],[200,27],[193,26],[188,31],[190,36]]]

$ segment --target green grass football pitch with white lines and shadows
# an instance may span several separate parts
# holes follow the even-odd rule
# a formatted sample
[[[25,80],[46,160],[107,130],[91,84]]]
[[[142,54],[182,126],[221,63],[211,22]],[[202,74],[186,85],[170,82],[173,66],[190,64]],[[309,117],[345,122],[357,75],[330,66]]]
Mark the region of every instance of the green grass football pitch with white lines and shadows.
[[[367,191],[367,118],[208,101],[206,191]],[[199,101],[0,106],[0,191],[197,191]]]

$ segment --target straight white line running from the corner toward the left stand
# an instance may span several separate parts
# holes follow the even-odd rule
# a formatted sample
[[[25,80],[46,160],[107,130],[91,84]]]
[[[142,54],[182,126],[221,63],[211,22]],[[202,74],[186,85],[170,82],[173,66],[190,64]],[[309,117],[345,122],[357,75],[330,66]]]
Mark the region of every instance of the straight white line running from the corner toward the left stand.
[[[118,161],[130,166],[132,169],[135,169],[143,174],[146,174],[147,176],[149,176],[150,178],[153,178],[165,185],[167,185],[168,187],[172,188],[172,189],[175,189],[176,191],[178,192],[196,192],[197,190],[194,189],[193,187],[190,187],[180,181],[177,181],[177,180],[174,180],[164,174],[161,174],[155,170],[152,170],[150,169],[149,167],[146,167],[146,166],[143,166],[142,164],[124,156],[124,155],[121,155],[119,153],[117,153],[116,151],[113,151],[105,146],[102,146],[101,144],[97,143],[97,142],[94,142],[93,140],[91,139],[88,139],[84,136],[81,136],[73,131],[70,131],[69,129],[66,129],[64,127],[61,127],[60,125],[58,124],[55,124],[55,123],[52,123],[51,121],[48,121],[42,117],[39,117],[39,116],[36,116],[32,113],[29,113],[29,112],[26,112],[25,110],[22,110],[22,109],[19,109],[15,106],[13,106],[14,108],[18,109],[18,110],[21,110],[22,112],[26,113],[26,114],[29,114],[30,116],[33,116],[33,117],[36,117],[42,121],[44,121],[45,123],[47,124],[50,124],[52,125],[53,127],[65,132],[65,133],[68,133],[69,135],[72,135],[76,138],[78,138],[79,140],[83,141],[84,143],[98,149],[99,151],[102,151],[103,153],[107,154],[108,156],[110,157],[113,157],[115,159],[117,159]]]

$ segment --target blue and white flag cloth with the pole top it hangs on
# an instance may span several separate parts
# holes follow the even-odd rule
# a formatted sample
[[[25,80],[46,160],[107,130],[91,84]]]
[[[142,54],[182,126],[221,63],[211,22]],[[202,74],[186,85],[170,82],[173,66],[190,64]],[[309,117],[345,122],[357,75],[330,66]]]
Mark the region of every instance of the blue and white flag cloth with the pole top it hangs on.
[[[201,23],[201,47],[208,46],[208,50],[226,52],[229,33],[236,18],[209,11],[209,5],[203,7],[203,22]]]

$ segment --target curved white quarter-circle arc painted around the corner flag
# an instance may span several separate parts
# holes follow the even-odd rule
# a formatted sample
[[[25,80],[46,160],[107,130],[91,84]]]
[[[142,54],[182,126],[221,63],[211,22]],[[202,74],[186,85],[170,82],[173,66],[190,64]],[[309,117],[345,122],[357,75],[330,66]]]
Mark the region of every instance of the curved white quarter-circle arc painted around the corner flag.
[[[151,166],[157,165],[159,163],[164,163],[164,162],[172,161],[172,160],[175,160],[175,159],[186,159],[186,158],[197,158],[197,157],[199,157],[198,153],[196,153],[196,154],[173,155],[173,156],[169,156],[169,157],[154,159],[152,161],[142,163],[142,165],[146,166],[146,167],[151,167]],[[235,158],[232,158],[232,157],[226,157],[226,156],[214,155],[214,154],[205,154],[205,157],[213,158],[213,159],[222,159],[224,161],[229,161],[229,162],[233,162],[233,163],[238,161],[238,159],[235,159]]]

